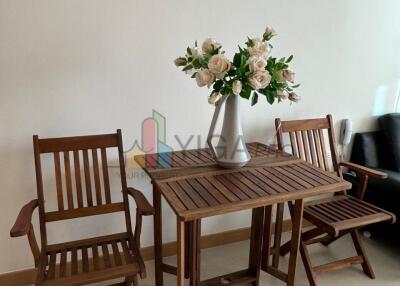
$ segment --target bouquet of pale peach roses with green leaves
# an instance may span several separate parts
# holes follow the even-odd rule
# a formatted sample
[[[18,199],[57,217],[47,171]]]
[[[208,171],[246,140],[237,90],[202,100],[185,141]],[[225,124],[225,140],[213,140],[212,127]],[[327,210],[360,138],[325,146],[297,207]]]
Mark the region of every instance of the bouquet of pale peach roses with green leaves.
[[[265,96],[270,104],[288,99],[297,102],[300,97],[294,92],[294,72],[289,69],[293,56],[277,59],[270,56],[269,41],[276,36],[275,30],[267,27],[262,38],[248,38],[244,47],[239,46],[233,61],[222,50],[220,43],[206,39],[201,49],[188,47],[186,55],[175,60],[175,65],[196,79],[199,87],[212,87],[208,98],[215,104],[222,95],[240,95],[251,99],[251,105]]]

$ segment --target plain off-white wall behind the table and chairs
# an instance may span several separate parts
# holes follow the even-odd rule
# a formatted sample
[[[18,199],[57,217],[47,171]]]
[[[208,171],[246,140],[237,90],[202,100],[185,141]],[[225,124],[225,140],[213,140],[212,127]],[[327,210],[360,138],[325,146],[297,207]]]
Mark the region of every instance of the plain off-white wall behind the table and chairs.
[[[19,208],[36,194],[32,134],[122,128],[129,147],[156,109],[167,117],[168,144],[178,146],[174,135],[204,138],[213,112],[208,91],[173,59],[208,36],[232,56],[247,35],[260,35],[267,24],[279,33],[274,55],[295,55],[303,100],[275,106],[261,100],[253,108],[243,102],[246,137],[271,138],[275,117],[327,113],[351,118],[355,131],[372,129],[373,115],[393,111],[400,85],[399,11],[396,0],[0,0],[0,272],[32,266],[26,240],[8,236]],[[147,179],[130,184],[151,198]],[[171,241],[174,217],[164,212]],[[123,223],[104,221],[61,224],[50,236],[68,240]],[[249,221],[247,213],[208,219],[204,233]],[[143,244],[152,245],[151,220],[144,226]]]

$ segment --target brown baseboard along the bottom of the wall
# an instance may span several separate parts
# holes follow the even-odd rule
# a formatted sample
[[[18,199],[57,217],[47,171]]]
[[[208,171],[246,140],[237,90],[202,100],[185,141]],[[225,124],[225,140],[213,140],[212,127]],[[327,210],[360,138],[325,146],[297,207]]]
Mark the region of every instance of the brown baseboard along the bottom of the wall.
[[[304,227],[310,226],[307,222]],[[283,223],[283,231],[288,232],[292,229],[290,220]],[[224,231],[221,233],[214,233],[202,236],[201,248],[211,248],[224,244],[234,243],[238,241],[247,240],[250,238],[250,228],[240,228],[235,230]],[[144,247],[141,249],[144,260],[154,259],[153,246]],[[176,254],[176,242],[169,242],[163,245],[163,256],[172,256]],[[30,255],[30,253],[29,253]],[[25,286],[35,283],[36,269],[24,269],[19,271],[7,272],[0,274],[0,285],[7,286]]]

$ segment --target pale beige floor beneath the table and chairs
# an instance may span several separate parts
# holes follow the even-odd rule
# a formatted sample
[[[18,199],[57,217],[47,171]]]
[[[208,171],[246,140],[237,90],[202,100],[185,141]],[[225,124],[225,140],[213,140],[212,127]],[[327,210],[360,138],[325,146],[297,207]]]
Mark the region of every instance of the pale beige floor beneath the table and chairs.
[[[376,279],[369,279],[363,274],[361,267],[356,266],[321,276],[319,279],[320,286],[400,286],[400,246],[397,248],[393,245],[389,247],[385,242],[371,239],[364,239],[364,242]],[[245,268],[248,261],[248,246],[248,241],[244,241],[203,250],[202,280]],[[347,238],[342,238],[328,248],[321,245],[313,245],[310,247],[310,253],[314,264],[323,264],[333,259],[345,258],[355,254],[351,242]],[[167,257],[165,259],[165,262],[171,264],[174,264],[175,261],[175,257]],[[287,257],[282,259],[282,269],[286,269],[284,267],[287,267],[287,262]],[[148,278],[139,280],[141,286],[154,285],[153,264],[153,261],[147,263]],[[174,276],[165,274],[164,281],[166,286],[176,285]],[[284,285],[284,283],[268,274],[262,273],[260,285],[279,286]],[[301,261],[299,262],[296,285],[309,285]]]

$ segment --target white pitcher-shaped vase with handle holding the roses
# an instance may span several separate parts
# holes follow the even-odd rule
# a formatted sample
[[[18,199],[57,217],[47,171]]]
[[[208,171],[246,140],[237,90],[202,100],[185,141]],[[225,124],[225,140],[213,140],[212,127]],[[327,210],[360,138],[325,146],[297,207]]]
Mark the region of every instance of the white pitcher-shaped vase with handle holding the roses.
[[[215,134],[215,127],[225,104],[224,121],[219,135]],[[218,138],[214,146],[213,139]],[[215,161],[224,168],[240,168],[250,161],[250,154],[246,148],[240,120],[240,97],[224,95],[216,104],[214,116],[207,137],[207,143]]]

